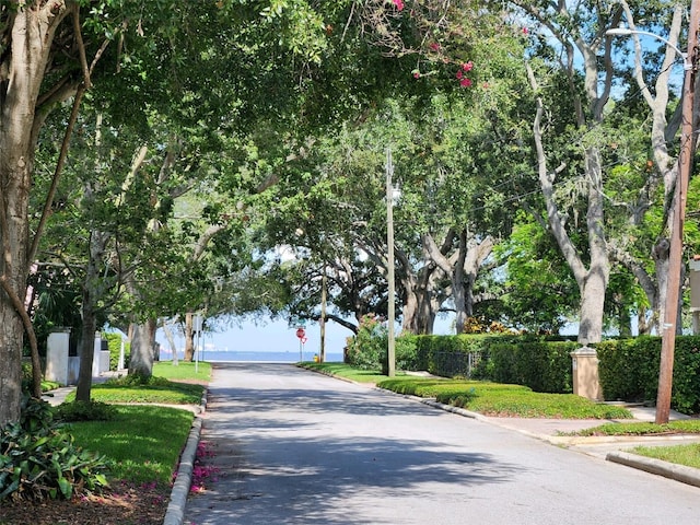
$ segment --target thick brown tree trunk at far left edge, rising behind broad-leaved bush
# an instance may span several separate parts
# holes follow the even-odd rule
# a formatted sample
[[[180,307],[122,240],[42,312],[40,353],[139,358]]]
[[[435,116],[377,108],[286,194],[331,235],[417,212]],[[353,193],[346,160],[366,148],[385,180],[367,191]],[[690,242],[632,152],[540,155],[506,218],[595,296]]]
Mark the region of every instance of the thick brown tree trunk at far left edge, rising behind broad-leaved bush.
[[[0,57],[0,428],[20,418],[24,327],[11,298],[24,298],[26,291],[36,101],[66,12],[58,0],[15,8],[5,16],[11,42],[3,43],[9,47]]]

